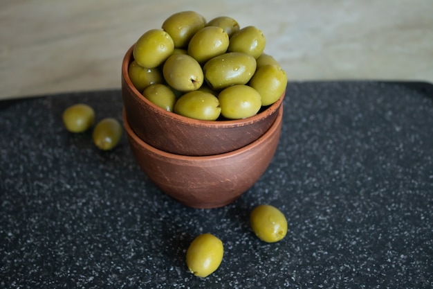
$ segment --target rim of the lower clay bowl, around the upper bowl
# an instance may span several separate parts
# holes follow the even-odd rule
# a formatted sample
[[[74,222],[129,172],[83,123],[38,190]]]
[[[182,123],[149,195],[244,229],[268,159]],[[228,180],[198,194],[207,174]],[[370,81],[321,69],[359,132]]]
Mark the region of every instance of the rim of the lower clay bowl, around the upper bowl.
[[[281,127],[282,119],[283,119],[283,105],[279,107],[279,110],[277,111],[277,117],[275,118],[273,124],[270,125],[270,128],[266,130],[266,132],[262,134],[261,137],[259,137],[259,139],[253,141],[252,143],[249,143],[246,146],[238,148],[237,150],[224,152],[219,155],[201,155],[201,156],[176,155],[171,152],[165,152],[164,150],[159,150],[158,148],[155,148],[154,146],[151,146],[149,145],[149,143],[146,143],[145,141],[140,139],[140,137],[138,137],[138,135],[133,131],[131,125],[129,125],[125,108],[123,108],[122,110],[122,118],[125,126],[125,131],[127,132],[128,137],[132,137],[133,141],[138,143],[140,147],[153,153],[154,155],[158,155],[159,157],[163,157],[165,159],[176,159],[178,161],[210,161],[215,159],[225,159],[228,157],[233,157],[234,155],[240,155],[243,152],[247,152],[248,150],[257,147],[261,143],[266,141],[272,134],[274,134],[278,130],[279,127]]]

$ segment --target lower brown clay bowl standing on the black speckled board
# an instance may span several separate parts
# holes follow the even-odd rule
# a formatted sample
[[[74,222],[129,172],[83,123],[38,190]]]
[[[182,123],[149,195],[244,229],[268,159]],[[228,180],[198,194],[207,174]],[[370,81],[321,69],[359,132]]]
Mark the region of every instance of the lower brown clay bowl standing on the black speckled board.
[[[282,127],[282,107],[259,139],[221,155],[185,156],[158,150],[142,141],[123,111],[131,151],[156,186],[188,207],[210,209],[230,204],[257,182],[273,159]]]

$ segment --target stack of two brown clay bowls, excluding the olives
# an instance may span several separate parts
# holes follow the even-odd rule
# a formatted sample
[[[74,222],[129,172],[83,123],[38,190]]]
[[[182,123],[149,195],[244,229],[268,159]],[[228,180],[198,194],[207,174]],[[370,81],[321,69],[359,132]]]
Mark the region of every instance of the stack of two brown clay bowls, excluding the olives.
[[[129,76],[135,45],[122,61],[122,101],[125,131],[138,165],[160,190],[188,207],[230,204],[273,159],[285,93],[242,119],[210,121],[167,111],[143,96]]]

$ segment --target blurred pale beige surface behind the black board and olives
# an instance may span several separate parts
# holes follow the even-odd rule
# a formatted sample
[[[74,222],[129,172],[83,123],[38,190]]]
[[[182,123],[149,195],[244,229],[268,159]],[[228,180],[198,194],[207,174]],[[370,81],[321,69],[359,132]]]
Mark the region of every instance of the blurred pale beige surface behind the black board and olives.
[[[289,81],[433,82],[432,0],[14,0],[0,7],[0,99],[118,89],[127,49],[183,10],[260,28]]]

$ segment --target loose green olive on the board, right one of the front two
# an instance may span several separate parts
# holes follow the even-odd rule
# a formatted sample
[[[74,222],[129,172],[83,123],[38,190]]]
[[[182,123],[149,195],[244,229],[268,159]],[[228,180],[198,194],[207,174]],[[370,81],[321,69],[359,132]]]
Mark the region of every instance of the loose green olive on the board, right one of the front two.
[[[252,231],[267,243],[282,240],[287,234],[287,220],[282,211],[268,204],[261,204],[250,214]]]

